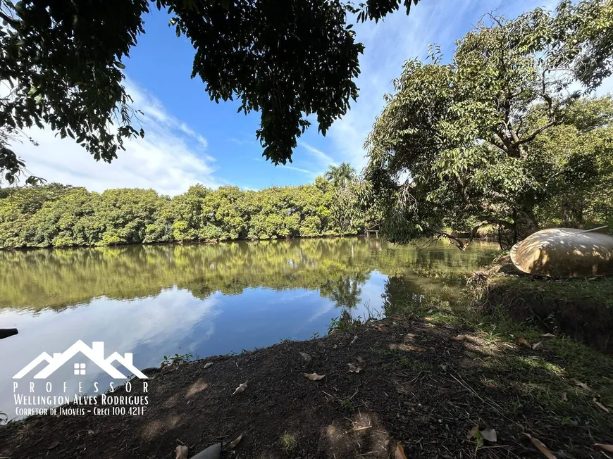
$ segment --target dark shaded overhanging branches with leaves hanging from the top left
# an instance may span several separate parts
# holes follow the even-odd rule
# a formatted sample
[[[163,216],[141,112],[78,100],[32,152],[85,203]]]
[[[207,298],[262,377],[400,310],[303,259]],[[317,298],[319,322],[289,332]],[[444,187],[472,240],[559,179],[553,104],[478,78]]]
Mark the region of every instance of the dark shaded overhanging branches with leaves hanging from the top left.
[[[416,4],[419,0],[412,0]],[[151,2],[153,3],[153,2]],[[326,134],[355,101],[358,57],[348,13],[379,20],[411,0],[156,0],[177,36],[194,46],[192,77],[211,100],[240,99],[259,111],[263,156],[291,161],[316,115]],[[0,175],[13,183],[25,162],[11,149],[23,130],[47,125],[97,160],[112,161],[125,139],[143,136],[125,65],[144,33],[147,0],[0,0]],[[4,90],[4,89],[3,89]],[[37,182],[37,177],[27,177]]]

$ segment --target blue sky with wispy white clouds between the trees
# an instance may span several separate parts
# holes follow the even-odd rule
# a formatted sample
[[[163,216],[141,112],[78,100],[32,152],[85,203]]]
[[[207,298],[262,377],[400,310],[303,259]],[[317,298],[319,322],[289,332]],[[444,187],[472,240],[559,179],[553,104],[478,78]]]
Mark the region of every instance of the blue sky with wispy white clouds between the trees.
[[[146,33],[125,61],[128,91],[136,108],[144,111],[145,139],[130,141],[111,165],[97,163],[71,139],[55,138],[49,130],[33,130],[30,134],[40,145],[23,144],[18,151],[33,174],[92,191],[142,187],[174,195],[194,183],[260,189],[312,182],[329,164],[343,161],[361,170],[366,164],[364,139],[404,61],[425,58],[428,44],[433,43],[450,58],[455,40],[484,13],[514,17],[555,4],[554,0],[428,0],[408,16],[399,11],[378,24],[357,25],[357,39],[366,46],[357,80],[358,101],[326,137],[317,133],[316,126],[307,130],[293,163],[276,167],[264,161],[256,142],[259,113],[244,115],[237,113],[236,102],[210,101],[204,83],[190,79],[191,44],[185,37],[177,38],[168,27],[169,16],[154,8],[145,18]],[[610,86],[607,82],[607,89]]]

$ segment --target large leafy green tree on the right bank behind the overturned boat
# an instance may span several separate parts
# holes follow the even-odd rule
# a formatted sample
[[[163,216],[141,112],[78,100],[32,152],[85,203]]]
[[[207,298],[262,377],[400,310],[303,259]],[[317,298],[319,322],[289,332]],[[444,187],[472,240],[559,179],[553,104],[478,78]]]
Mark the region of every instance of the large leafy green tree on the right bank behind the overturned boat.
[[[407,61],[367,141],[388,235],[495,225],[507,245],[540,225],[609,221],[613,102],[586,96],[611,74],[612,30],[613,1],[565,0],[490,16],[451,63],[436,47]]]

